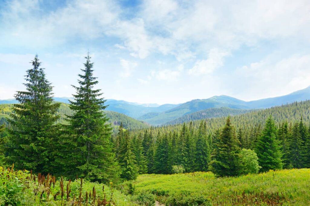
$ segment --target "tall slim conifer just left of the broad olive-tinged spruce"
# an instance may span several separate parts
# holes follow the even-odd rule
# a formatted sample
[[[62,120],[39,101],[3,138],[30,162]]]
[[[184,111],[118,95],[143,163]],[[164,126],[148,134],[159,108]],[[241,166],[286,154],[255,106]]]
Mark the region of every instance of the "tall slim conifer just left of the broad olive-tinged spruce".
[[[196,141],[196,171],[207,171],[210,162],[210,146],[206,138],[206,125],[200,122]]]

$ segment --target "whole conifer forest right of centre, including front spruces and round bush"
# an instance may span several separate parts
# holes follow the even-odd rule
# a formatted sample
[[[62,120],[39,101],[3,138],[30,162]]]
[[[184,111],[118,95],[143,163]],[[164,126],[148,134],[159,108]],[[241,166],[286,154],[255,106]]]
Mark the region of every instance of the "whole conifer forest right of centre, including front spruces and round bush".
[[[218,175],[310,167],[309,107],[310,101],[303,101],[232,116],[229,123],[226,118],[214,118],[132,131],[131,144],[141,148],[134,155],[143,159],[135,164],[148,173],[212,170]],[[116,148],[121,147],[122,135],[114,142],[118,142]],[[235,149],[226,151],[225,147]],[[226,158],[223,153],[229,154],[229,161],[216,162],[216,158]],[[232,162],[235,166],[229,165]],[[253,164],[247,166],[249,162]],[[227,168],[234,172],[227,173]]]

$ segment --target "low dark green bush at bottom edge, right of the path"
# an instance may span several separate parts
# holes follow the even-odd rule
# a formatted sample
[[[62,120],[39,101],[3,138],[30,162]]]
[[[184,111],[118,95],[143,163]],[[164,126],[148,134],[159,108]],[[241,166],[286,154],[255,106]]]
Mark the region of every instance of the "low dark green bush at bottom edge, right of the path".
[[[212,206],[212,201],[200,194],[169,196],[166,205],[170,206]]]

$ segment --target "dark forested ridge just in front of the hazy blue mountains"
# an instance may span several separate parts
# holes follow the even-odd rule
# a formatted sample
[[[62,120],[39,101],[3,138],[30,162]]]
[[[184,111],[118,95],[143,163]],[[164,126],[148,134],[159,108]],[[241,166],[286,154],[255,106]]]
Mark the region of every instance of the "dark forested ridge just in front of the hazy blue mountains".
[[[165,123],[165,125],[181,124],[184,122],[203,120],[203,119],[209,119],[209,118],[235,116],[235,115],[248,113],[251,111],[255,111],[255,110],[254,109],[232,109],[228,107],[209,108],[209,109],[204,109],[204,110],[196,111],[196,112],[181,116],[178,119]]]

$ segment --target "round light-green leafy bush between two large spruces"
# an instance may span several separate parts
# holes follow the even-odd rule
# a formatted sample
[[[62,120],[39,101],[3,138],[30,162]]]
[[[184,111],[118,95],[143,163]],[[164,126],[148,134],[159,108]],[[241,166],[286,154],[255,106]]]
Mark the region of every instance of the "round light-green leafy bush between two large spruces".
[[[260,170],[261,166],[258,164],[258,157],[256,153],[251,149],[241,150],[241,174],[256,174]]]

